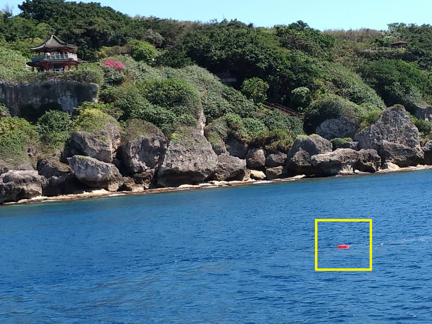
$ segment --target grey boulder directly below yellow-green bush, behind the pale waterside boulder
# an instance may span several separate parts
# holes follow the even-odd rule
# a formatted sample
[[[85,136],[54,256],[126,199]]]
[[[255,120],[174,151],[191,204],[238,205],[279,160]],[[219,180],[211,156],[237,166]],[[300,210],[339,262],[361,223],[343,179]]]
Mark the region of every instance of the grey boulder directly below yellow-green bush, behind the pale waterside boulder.
[[[85,155],[111,163],[120,145],[120,130],[112,125],[98,133],[74,132],[70,140],[71,155]],[[114,129],[115,128],[115,129]]]

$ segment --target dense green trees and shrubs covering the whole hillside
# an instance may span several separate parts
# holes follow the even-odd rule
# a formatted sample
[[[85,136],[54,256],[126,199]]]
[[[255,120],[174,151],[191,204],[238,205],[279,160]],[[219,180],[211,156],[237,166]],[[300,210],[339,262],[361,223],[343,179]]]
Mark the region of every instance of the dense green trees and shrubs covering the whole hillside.
[[[386,105],[413,111],[432,104],[430,25],[321,32],[302,21],[263,28],[225,19],[132,18],[93,2],[25,0],[19,9],[17,16],[0,11],[0,80],[76,80],[97,83],[100,89],[96,102],[83,103],[76,114],[48,105],[29,108],[23,115],[35,126],[6,117],[0,105],[1,121],[25,130],[0,135],[0,143],[21,138],[14,152],[24,152],[26,143],[39,139],[45,147],[60,149],[71,130],[97,132],[107,124],[126,127],[130,136],[159,127],[175,140],[180,136],[176,130],[202,121],[201,109],[214,143],[231,136],[286,151],[297,135],[314,133],[327,118],[344,116],[364,128]],[[37,73],[25,66],[32,57],[29,48],[51,28],[78,46],[79,57],[86,60],[79,71]],[[398,40],[409,44],[363,51]],[[225,86],[215,76],[219,73],[237,82]],[[304,123],[266,108],[265,100],[303,112]],[[430,135],[429,122],[412,121],[424,138]],[[36,133],[25,135],[30,130]]]

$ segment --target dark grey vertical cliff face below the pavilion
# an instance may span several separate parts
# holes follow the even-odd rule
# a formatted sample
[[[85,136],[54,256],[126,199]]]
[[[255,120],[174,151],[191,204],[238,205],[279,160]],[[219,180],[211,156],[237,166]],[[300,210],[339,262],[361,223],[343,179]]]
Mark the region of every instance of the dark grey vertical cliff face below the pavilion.
[[[73,111],[85,101],[93,101],[98,85],[76,81],[44,81],[32,83],[0,83],[0,102],[12,116],[22,117],[26,109],[38,109],[49,104],[60,105],[63,111]]]

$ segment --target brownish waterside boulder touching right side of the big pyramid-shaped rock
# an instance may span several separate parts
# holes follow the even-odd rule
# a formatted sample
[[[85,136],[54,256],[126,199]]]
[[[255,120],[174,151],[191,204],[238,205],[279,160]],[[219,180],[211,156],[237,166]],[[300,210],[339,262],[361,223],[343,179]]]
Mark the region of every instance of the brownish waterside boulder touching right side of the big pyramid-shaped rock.
[[[246,175],[246,161],[236,156],[221,154],[217,156],[216,169],[210,177],[212,180],[238,180],[242,181]]]

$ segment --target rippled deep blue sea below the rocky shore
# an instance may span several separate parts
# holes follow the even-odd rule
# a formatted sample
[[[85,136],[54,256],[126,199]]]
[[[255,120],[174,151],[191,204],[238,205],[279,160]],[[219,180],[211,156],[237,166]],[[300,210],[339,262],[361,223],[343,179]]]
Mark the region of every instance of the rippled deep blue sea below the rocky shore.
[[[431,193],[425,170],[3,206],[0,323],[432,323]],[[373,270],[314,271],[316,218],[372,218]],[[368,230],[318,223],[318,267],[368,267]]]

